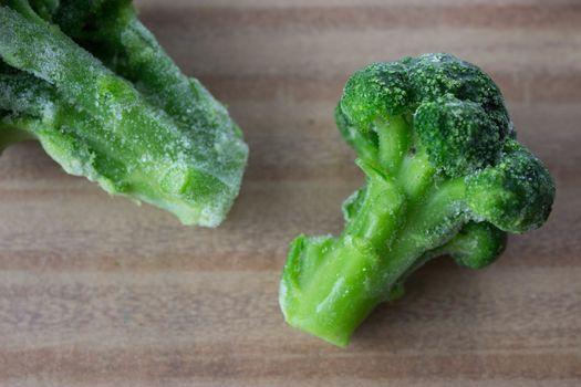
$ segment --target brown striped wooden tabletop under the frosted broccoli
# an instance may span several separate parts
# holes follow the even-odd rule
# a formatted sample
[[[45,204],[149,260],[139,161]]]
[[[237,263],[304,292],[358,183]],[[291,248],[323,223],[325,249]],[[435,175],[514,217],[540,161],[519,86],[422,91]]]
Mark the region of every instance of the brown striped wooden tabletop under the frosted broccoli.
[[[494,3],[494,4],[492,4]],[[251,156],[217,230],[111,198],[38,144],[0,158],[2,386],[581,386],[581,3],[138,2]],[[446,51],[498,81],[557,179],[541,230],[481,271],[428,264],[340,349],[288,327],[289,241],[362,184],[333,107],[355,69]]]

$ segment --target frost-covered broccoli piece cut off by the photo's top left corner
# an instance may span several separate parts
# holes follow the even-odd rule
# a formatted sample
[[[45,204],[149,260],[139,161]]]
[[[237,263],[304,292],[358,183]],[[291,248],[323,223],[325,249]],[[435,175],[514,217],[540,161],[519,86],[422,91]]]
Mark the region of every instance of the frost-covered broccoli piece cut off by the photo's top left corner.
[[[186,224],[230,209],[248,147],[126,0],[0,0],[0,145],[40,140],[69,174]]]

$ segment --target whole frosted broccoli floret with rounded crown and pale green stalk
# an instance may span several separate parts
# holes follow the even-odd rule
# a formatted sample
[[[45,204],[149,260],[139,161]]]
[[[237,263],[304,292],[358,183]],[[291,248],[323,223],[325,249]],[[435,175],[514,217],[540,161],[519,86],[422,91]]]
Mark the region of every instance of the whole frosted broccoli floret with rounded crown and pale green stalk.
[[[366,185],[343,205],[339,238],[299,236],[280,283],[289,324],[343,346],[403,281],[443,254],[491,263],[506,232],[548,218],[554,185],[515,137],[492,80],[448,54],[375,63],[336,107]]]

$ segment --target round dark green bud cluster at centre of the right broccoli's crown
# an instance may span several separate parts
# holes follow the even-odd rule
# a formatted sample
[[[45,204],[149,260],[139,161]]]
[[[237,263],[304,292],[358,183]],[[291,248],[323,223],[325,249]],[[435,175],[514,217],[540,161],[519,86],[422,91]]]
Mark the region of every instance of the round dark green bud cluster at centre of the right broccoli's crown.
[[[495,164],[505,139],[481,105],[452,94],[419,105],[414,127],[429,161],[452,177]]]

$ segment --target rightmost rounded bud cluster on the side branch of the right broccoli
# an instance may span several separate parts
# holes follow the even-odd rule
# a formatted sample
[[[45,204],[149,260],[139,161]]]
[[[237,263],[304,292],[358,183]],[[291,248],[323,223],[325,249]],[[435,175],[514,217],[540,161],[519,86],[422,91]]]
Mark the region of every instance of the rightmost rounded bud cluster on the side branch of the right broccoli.
[[[537,157],[509,139],[498,165],[466,178],[466,194],[476,216],[505,231],[527,232],[549,217],[554,182]]]

